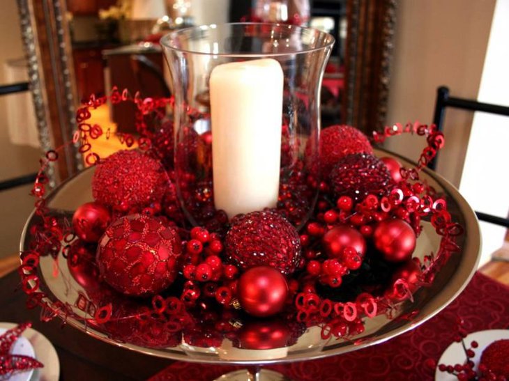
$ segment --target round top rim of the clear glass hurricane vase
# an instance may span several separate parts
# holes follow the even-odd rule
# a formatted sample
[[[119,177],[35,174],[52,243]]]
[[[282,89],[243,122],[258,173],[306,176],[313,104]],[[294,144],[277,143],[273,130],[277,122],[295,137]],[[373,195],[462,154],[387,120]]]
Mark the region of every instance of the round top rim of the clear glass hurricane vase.
[[[224,26],[285,26],[289,30],[294,31],[313,31],[317,32],[319,35],[327,36],[327,41],[324,43],[324,45],[321,45],[319,47],[310,47],[307,49],[296,49],[291,52],[277,52],[277,53],[211,53],[211,52],[199,52],[195,50],[189,50],[189,49],[181,49],[179,47],[175,47],[171,45],[171,41],[178,35],[183,35],[185,33],[189,33],[192,30],[207,30],[207,29],[218,29],[220,27]],[[190,26],[188,28],[184,29],[178,29],[177,31],[172,31],[170,33],[165,34],[165,36],[162,36],[159,40],[160,45],[162,47],[165,47],[166,49],[173,50],[175,52],[181,52],[181,53],[188,53],[188,54],[199,54],[202,56],[215,56],[215,57],[243,57],[243,58],[257,58],[257,57],[277,57],[277,56],[289,56],[294,54],[304,54],[304,53],[310,53],[310,52],[316,52],[319,50],[326,49],[328,47],[332,47],[335,43],[334,36],[331,35],[331,33],[326,33],[324,31],[320,31],[319,29],[314,28],[308,28],[305,26],[296,26],[291,24],[280,24],[280,23],[270,23],[270,22],[227,22],[222,24],[205,24],[205,25],[199,25],[199,26]]]

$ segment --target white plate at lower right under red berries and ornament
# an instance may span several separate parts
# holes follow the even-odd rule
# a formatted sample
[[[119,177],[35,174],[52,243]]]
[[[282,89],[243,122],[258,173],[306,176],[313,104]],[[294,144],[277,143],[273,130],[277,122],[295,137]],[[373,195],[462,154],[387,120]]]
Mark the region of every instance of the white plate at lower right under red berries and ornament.
[[[472,341],[477,341],[479,344],[478,348],[472,348],[474,352],[476,352],[476,356],[472,358],[472,361],[476,366],[474,370],[478,370],[480,357],[483,354],[485,348],[493,343],[494,341],[501,339],[509,339],[509,329],[488,329],[487,331],[479,331],[473,332],[473,334],[469,334],[464,339],[464,343],[466,348],[471,347]],[[455,365],[455,364],[463,364],[466,361],[466,355],[462,347],[462,343],[452,343],[449,347],[442,353],[442,356],[439,359],[438,364],[446,364],[446,365]],[[457,381],[455,375],[449,374],[447,372],[439,371],[437,366],[435,372],[435,380],[436,381]]]

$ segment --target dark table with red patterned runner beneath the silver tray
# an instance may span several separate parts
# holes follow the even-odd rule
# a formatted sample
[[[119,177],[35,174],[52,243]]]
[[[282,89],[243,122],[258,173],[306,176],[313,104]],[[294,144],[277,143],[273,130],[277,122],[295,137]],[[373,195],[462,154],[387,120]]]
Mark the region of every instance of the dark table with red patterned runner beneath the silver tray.
[[[56,348],[61,380],[212,380],[232,366],[183,363],[142,355],[103,343],[61,320],[40,322],[40,309],[28,310],[20,277],[0,279],[0,321],[33,322]],[[437,361],[456,332],[457,316],[468,332],[509,328],[509,288],[477,273],[466,290],[432,320],[396,339],[346,355],[270,366],[294,380],[432,380]]]

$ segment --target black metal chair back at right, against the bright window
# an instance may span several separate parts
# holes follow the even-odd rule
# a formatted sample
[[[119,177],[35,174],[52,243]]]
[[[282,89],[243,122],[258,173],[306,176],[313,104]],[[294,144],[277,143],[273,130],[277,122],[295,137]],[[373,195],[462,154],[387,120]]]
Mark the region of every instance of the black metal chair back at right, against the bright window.
[[[433,116],[433,123],[440,131],[443,131],[443,120],[446,116],[447,107],[468,111],[483,111],[490,114],[509,116],[509,107],[477,102],[476,100],[451,97],[449,94],[449,88],[446,86],[441,86],[436,91],[436,104]],[[432,160],[432,162],[430,162],[428,165],[431,169],[436,168],[436,159],[437,157],[435,157],[434,160]],[[483,212],[476,212],[476,215],[481,221],[486,221],[491,224],[509,228],[509,219],[507,218],[488,215],[487,213]]]

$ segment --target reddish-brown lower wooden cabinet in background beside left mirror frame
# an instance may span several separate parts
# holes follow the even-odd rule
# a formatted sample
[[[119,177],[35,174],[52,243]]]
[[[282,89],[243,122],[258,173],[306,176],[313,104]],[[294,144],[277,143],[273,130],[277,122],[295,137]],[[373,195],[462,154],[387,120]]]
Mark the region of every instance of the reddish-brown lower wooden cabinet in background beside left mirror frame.
[[[104,64],[102,49],[75,49],[74,70],[79,100],[91,94],[105,94]]]

